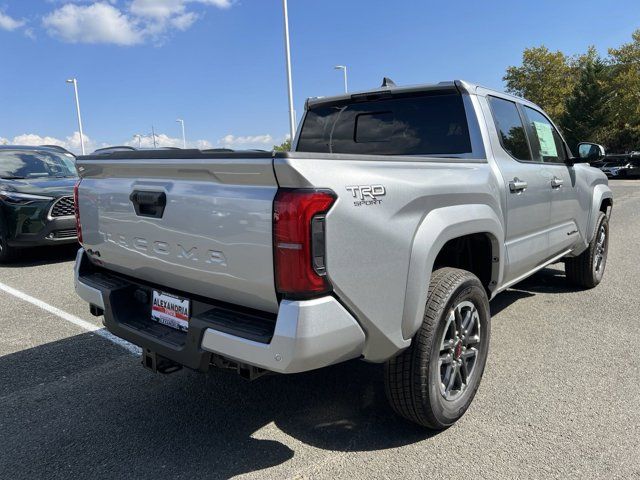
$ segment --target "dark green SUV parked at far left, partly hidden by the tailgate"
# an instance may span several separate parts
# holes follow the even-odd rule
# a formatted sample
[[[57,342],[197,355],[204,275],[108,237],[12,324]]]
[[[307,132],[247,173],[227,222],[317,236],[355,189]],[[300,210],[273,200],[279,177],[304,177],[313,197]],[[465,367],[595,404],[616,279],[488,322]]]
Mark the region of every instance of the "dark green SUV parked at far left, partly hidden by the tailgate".
[[[77,242],[75,157],[50,147],[0,146],[0,262],[17,247]]]

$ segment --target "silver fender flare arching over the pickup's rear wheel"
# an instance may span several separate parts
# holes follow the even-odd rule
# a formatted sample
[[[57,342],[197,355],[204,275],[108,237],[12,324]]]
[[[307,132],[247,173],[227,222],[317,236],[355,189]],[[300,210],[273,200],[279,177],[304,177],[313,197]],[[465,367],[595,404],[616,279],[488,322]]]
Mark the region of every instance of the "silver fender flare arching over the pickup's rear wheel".
[[[442,247],[454,238],[474,233],[491,239],[493,267],[490,289],[502,283],[505,264],[504,228],[488,205],[455,205],[430,211],[413,237],[402,315],[402,336],[410,339],[422,324],[433,264]],[[497,260],[495,260],[497,258]]]

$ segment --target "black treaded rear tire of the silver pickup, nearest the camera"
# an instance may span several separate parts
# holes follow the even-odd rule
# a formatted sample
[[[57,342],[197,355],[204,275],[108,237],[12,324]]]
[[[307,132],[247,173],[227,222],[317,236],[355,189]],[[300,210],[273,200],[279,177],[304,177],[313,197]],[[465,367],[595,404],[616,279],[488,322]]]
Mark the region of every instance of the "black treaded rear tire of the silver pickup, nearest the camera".
[[[466,340],[462,336],[450,350],[451,359],[447,363],[441,359],[446,356],[442,351],[447,352],[449,342],[453,341],[446,340],[449,334],[453,335],[451,314],[453,313],[456,318],[453,329],[458,333],[457,329],[462,322],[458,322],[454,310],[457,310],[460,305],[467,304],[475,307],[477,316],[474,316],[474,310],[471,307],[464,307],[471,312],[469,318],[475,319]],[[460,310],[460,313],[463,311]],[[471,334],[476,331],[475,324],[479,328],[478,342],[470,347],[471,344],[463,342],[471,341]],[[442,430],[453,425],[464,415],[480,386],[489,352],[490,327],[489,299],[480,280],[472,273],[456,268],[447,267],[434,271],[429,283],[427,304],[420,329],[414,336],[411,346],[390,359],[385,365],[385,390],[393,410],[418,425],[434,430]],[[460,332],[467,331],[460,328]],[[448,346],[443,350],[445,342]],[[466,347],[459,345],[466,345]],[[465,351],[462,352],[463,348]],[[475,350],[475,360],[469,369],[468,362],[471,356],[467,355],[473,354],[473,350]],[[445,398],[447,387],[444,385],[443,375],[455,371],[449,369],[454,368],[452,365],[460,361],[465,364],[465,367],[462,365],[457,367],[460,374],[460,391],[455,397],[451,396],[449,391],[449,398]],[[466,384],[462,378],[463,368],[469,373]],[[450,374],[449,377],[445,375],[444,378],[451,379],[456,375],[457,373]]]

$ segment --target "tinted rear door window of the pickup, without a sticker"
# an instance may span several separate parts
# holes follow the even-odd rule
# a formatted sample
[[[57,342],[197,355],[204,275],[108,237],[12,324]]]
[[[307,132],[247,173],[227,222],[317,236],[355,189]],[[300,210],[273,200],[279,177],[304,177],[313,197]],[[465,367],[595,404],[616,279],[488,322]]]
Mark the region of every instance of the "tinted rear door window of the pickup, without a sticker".
[[[489,104],[502,147],[515,159],[530,161],[531,151],[516,104],[497,97],[489,97]]]

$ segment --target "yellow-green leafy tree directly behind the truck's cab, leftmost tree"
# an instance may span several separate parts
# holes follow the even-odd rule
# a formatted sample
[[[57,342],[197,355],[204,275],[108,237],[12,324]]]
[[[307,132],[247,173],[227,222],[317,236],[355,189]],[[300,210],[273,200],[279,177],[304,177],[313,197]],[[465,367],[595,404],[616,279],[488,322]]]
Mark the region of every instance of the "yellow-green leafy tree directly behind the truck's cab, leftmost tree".
[[[565,113],[565,99],[575,85],[574,67],[562,52],[545,46],[527,48],[522,65],[507,68],[507,91],[540,105],[553,119]]]

